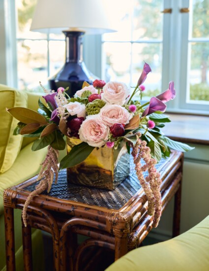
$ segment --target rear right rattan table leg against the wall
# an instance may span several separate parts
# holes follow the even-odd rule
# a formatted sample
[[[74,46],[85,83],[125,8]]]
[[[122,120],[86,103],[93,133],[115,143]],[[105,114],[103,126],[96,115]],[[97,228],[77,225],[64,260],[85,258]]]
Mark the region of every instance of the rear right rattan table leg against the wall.
[[[181,181],[174,198],[173,237],[180,234],[180,204],[181,204]]]

